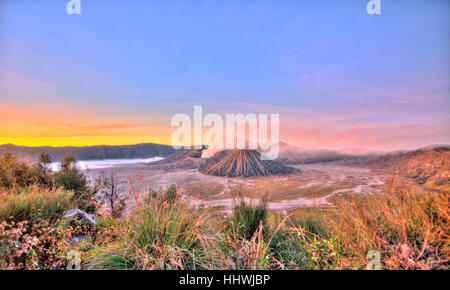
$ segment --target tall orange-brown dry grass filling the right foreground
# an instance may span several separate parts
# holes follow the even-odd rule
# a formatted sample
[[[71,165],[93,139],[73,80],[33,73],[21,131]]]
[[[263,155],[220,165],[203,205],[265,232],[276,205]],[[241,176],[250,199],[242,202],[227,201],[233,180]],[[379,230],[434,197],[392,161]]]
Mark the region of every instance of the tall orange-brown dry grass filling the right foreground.
[[[382,193],[338,202],[330,228],[345,249],[345,266],[362,268],[368,251],[377,250],[385,269],[448,268],[449,198],[392,180]]]

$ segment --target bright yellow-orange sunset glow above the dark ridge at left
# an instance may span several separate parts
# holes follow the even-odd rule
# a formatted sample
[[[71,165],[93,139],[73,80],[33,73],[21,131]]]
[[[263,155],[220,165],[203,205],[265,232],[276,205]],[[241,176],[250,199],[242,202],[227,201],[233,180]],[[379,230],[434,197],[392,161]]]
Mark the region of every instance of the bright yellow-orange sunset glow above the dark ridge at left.
[[[157,143],[169,145],[174,127],[165,115],[102,114],[71,102],[0,106],[0,145],[94,146]]]

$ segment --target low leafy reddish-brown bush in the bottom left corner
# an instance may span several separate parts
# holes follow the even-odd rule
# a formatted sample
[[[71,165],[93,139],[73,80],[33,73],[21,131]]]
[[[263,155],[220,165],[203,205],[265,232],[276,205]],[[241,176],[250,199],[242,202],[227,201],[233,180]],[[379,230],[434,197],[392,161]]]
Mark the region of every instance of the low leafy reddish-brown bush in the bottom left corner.
[[[72,250],[80,254],[81,266],[94,247],[115,241],[116,235],[114,227],[4,221],[0,223],[0,269],[62,270],[73,261]]]

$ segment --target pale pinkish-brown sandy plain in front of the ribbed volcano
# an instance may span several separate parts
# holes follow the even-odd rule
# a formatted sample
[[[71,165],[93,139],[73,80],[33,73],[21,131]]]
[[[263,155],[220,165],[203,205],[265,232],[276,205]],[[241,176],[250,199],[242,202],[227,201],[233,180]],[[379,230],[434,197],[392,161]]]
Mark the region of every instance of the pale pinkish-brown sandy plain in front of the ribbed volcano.
[[[195,169],[164,171],[136,163],[91,169],[87,175],[94,180],[114,171],[119,177],[121,194],[128,196],[177,185],[192,206],[221,207],[227,212],[238,195],[244,196],[249,202],[257,202],[261,195],[265,195],[268,197],[269,209],[277,213],[300,207],[329,206],[332,205],[330,198],[336,194],[370,194],[387,179],[371,169],[343,163],[293,167],[302,172],[285,176],[229,178],[204,175]]]

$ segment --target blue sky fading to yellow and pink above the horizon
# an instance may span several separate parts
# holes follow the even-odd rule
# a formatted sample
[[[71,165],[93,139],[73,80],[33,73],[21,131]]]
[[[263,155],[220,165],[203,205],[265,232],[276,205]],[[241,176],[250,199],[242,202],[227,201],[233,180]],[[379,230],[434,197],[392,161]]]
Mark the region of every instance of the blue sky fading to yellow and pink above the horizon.
[[[450,143],[447,0],[67,2],[0,0],[0,144],[170,144],[194,105],[304,148]]]

